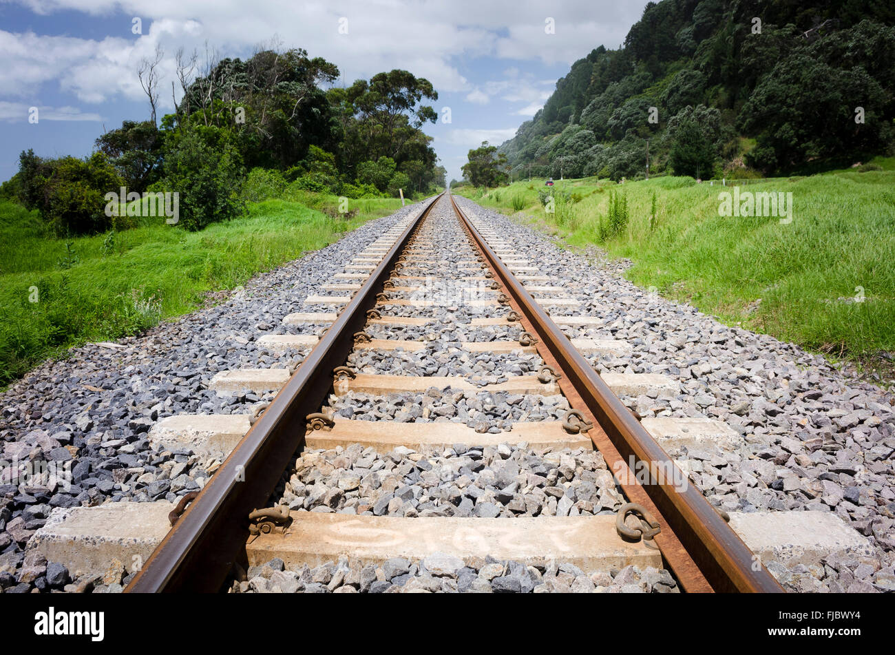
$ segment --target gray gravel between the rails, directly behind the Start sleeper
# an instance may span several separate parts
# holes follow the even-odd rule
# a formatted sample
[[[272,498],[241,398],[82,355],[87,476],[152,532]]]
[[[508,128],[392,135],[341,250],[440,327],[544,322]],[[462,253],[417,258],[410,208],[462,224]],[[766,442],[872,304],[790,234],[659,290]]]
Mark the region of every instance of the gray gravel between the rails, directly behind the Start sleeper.
[[[305,451],[278,494],[297,511],[411,517],[599,515],[624,503],[599,453],[525,444]]]

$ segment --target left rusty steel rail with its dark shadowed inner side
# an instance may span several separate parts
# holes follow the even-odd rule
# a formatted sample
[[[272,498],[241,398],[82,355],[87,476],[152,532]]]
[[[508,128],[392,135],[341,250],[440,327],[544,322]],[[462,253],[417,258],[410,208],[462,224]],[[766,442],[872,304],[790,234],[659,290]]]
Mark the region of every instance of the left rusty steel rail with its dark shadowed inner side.
[[[354,347],[354,332],[441,194],[397,238],[361,289],[295,370],[258,421],[153,551],[124,591],[219,591],[234,564],[245,565],[249,513],[268,504],[304,440],[305,417],[317,412],[333,383],[333,369]]]

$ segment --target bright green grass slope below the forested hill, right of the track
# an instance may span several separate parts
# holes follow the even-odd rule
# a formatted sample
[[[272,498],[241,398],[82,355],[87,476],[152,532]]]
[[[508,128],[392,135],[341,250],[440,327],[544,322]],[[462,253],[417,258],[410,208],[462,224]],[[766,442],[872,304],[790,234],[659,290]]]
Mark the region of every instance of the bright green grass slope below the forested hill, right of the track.
[[[541,227],[573,247],[600,243],[634,262],[626,276],[692,302],[724,322],[854,361],[895,350],[895,158],[881,171],[837,171],[749,183],[743,191],[791,191],[793,222],[721,217],[717,183],[660,177],[618,185],[595,178],[558,182],[572,193],[564,215],[546,214],[543,180],[497,192],[457,192]],[[626,229],[600,242],[609,191],[624,191]],[[730,189],[727,189],[730,191]],[[652,195],[656,195],[651,229]],[[863,287],[865,302],[844,302]],[[759,300],[760,299],[760,300]]]

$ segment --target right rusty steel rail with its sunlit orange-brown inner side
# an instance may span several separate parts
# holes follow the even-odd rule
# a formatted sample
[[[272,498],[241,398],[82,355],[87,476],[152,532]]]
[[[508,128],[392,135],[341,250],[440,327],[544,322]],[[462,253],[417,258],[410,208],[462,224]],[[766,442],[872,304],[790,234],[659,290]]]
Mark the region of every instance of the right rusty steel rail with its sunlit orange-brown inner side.
[[[525,329],[539,339],[536,347],[541,357],[562,372],[564,377],[558,384],[569,404],[593,423],[588,435],[626,496],[644,505],[659,520],[661,532],[654,538],[656,545],[685,591],[782,592],[761,560],[689,483],[674,460],[510,272],[453,196],[450,200],[470,242],[482,252],[511,306],[523,317]],[[631,471],[632,467],[643,470],[644,466],[651,474],[647,484],[636,481]]]

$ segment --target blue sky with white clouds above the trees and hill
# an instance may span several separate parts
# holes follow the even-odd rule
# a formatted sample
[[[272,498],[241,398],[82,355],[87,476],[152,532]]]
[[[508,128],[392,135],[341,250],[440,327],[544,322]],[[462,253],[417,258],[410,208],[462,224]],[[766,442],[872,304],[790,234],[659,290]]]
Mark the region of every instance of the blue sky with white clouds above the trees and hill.
[[[337,64],[343,82],[403,68],[438,89],[439,120],[426,132],[448,179],[466,152],[500,143],[550,96],[569,64],[618,47],[645,0],[0,0],[0,180],[22,149],[89,155],[124,119],[149,118],[137,80],[163,48],[161,89],[174,54],[206,42],[222,56],[259,44],[303,47]],[[136,21],[135,19],[139,19]],[[553,25],[552,34],[547,33]],[[339,27],[343,26],[342,30]],[[345,32],[345,28],[347,33]],[[162,94],[163,115],[173,107]],[[38,123],[29,122],[38,107]],[[449,108],[449,112],[445,111]]]

